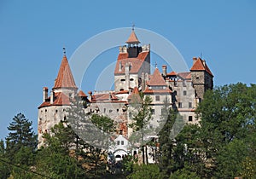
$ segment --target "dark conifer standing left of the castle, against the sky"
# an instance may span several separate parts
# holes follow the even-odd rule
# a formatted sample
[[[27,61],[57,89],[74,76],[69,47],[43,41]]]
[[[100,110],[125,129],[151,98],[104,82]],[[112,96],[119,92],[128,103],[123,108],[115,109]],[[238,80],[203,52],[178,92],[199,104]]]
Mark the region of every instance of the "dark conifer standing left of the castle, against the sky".
[[[11,176],[32,178],[32,174],[27,172],[35,164],[37,148],[37,136],[32,131],[32,121],[29,121],[24,114],[18,113],[9,124],[8,130],[3,159],[9,164]]]

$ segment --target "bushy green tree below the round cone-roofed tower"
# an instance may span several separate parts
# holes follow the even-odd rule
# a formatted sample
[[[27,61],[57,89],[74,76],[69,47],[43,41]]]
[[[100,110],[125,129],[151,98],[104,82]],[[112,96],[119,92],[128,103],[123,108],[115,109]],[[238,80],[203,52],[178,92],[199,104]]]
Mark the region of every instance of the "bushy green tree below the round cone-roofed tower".
[[[55,124],[50,134],[44,134],[45,147],[38,150],[37,171],[51,178],[83,178],[85,170],[74,153],[73,130],[63,123]]]

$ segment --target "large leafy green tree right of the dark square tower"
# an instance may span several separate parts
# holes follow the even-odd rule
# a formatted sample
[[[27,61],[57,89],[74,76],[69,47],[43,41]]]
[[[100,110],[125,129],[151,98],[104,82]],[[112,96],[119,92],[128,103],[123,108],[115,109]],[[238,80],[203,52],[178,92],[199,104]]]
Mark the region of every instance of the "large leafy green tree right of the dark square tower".
[[[251,135],[248,127],[255,125],[255,91],[255,85],[224,85],[207,91],[204,101],[197,108],[201,117],[201,141],[206,161],[216,170],[213,175],[235,177],[238,175],[235,171],[241,170],[241,161],[235,160],[242,160],[239,153],[245,153],[243,158],[247,156],[248,148],[242,146],[248,145],[244,143]],[[237,148],[236,145],[241,147]],[[230,153],[225,154],[226,151]],[[235,159],[233,169],[219,165],[232,159]]]

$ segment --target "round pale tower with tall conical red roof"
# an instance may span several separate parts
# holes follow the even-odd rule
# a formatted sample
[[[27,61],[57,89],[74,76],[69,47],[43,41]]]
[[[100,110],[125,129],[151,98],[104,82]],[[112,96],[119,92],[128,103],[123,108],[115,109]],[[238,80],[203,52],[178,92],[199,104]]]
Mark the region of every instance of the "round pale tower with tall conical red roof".
[[[67,108],[70,107],[71,100],[75,96],[87,100],[83,91],[80,90],[79,93],[77,91],[78,87],[64,52],[58,76],[50,95],[48,88],[43,88],[43,103],[38,107],[38,148],[44,146],[44,133],[50,133],[50,129],[55,124],[66,121]]]

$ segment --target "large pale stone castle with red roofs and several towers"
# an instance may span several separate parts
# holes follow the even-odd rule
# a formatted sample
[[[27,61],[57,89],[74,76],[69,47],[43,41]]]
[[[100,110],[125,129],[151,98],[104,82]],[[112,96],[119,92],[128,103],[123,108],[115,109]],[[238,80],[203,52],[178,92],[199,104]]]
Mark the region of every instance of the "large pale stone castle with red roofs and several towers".
[[[43,103],[38,107],[38,147],[44,145],[43,134],[55,124],[66,120],[67,108],[76,96],[90,103],[86,113],[97,113],[112,118],[117,124],[117,133],[131,136],[131,102],[139,92],[152,99],[153,120],[149,128],[158,124],[161,109],[167,99],[170,107],[176,107],[183,120],[195,124],[195,108],[203,99],[206,90],[213,87],[213,75],[206,61],[193,58],[190,72],[167,72],[164,65],[150,72],[150,45],[140,45],[132,29],[124,46],[119,47],[119,55],[114,69],[114,90],[94,92],[85,95],[75,84],[73,73],[64,56],[55,85],[49,93],[43,88]],[[154,134],[157,135],[157,134]]]

